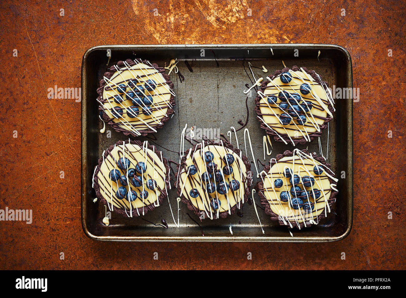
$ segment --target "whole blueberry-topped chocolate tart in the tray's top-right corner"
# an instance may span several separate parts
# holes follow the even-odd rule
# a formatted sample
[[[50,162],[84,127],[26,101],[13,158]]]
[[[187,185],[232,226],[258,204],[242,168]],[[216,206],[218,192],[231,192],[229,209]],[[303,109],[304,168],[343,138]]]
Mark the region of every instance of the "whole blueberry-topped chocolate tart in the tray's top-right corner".
[[[277,70],[268,79],[255,98],[257,119],[266,134],[294,146],[321,136],[335,111],[327,82],[297,66]]]

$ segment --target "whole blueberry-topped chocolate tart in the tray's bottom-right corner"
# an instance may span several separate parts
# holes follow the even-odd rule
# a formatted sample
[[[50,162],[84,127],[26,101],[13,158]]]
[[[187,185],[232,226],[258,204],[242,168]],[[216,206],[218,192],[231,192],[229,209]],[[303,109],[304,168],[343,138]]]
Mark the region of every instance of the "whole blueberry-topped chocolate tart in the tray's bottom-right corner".
[[[293,170],[293,174],[289,169]],[[285,177],[284,172],[288,177]],[[292,175],[299,176],[299,180],[293,180],[293,183],[300,190],[292,188]],[[306,150],[287,150],[276,155],[264,167],[260,177],[255,188],[265,207],[265,213],[272,220],[278,220],[280,225],[291,228],[302,229],[318,224],[330,213],[338,194],[335,188],[338,179],[334,177],[330,164]],[[289,195],[286,196],[286,193]]]

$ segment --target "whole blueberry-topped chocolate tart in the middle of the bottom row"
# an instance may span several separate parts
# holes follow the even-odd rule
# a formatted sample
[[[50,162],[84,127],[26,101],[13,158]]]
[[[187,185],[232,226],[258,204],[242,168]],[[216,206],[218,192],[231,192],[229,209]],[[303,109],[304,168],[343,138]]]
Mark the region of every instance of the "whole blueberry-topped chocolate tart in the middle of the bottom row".
[[[203,141],[188,149],[177,166],[177,195],[201,220],[226,218],[247,201],[250,174],[251,164],[240,149]]]

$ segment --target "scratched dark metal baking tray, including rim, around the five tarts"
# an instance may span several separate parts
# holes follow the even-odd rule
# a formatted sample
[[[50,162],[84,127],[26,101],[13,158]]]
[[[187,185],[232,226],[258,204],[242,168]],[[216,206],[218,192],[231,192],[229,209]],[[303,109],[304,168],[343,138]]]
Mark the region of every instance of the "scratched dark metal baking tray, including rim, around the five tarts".
[[[272,49],[272,51],[271,51]],[[295,50],[298,51],[295,51]],[[111,51],[108,60],[107,51]],[[319,54],[320,51],[320,54]],[[294,55],[298,53],[298,56]],[[134,56],[135,54],[135,56]],[[247,118],[245,84],[250,80],[244,71],[248,70],[248,62],[255,67],[265,66],[268,73],[253,68],[257,78],[272,76],[274,71],[298,65],[315,70],[322,79],[328,82],[330,88],[352,88],[352,64],[350,55],[337,45],[315,44],[268,44],[268,45],[103,45],[87,50],[82,60],[82,227],[84,233],[90,238],[108,241],[246,241],[246,242],[327,242],[345,238],[352,227],[352,99],[336,99],[336,112],[334,120],[330,122],[328,131],[324,130],[321,136],[322,151],[332,170],[339,178],[337,188],[339,194],[333,205],[333,212],[318,225],[304,228],[301,231],[293,229],[290,235],[287,227],[280,227],[278,222],[270,220],[259,203],[259,197],[254,195],[259,219],[255,213],[254,204],[244,204],[237,213],[218,220],[199,218],[187,209],[186,205],[179,203],[179,223],[176,227],[173,221],[168,200],[165,198],[162,205],[145,216],[124,218],[119,214],[111,213],[110,225],[102,223],[105,216],[105,207],[98,201],[93,203],[95,191],[92,188],[92,175],[97,160],[102,152],[118,140],[127,139],[123,134],[115,132],[110,126],[106,127],[108,134],[101,134],[103,127],[99,120],[98,103],[96,101],[99,80],[103,77],[107,67],[119,60],[127,58],[143,58],[157,63],[163,67],[173,58],[177,58],[177,67],[184,76],[179,80],[178,74],[171,73],[174,83],[175,114],[162,129],[154,134],[156,145],[166,159],[178,161],[180,138],[182,129],[187,124],[198,129],[214,129],[227,137],[227,132],[233,126],[241,127],[238,120],[245,123]],[[193,72],[189,70],[184,61],[187,60]],[[168,71],[166,71],[167,73]],[[254,187],[257,183],[254,162],[261,160],[268,164],[270,158],[285,150],[295,147],[272,140],[272,154],[266,155],[264,160],[263,136],[264,130],[259,127],[254,112],[255,91],[248,98],[248,129],[253,144],[253,153],[247,147],[247,157],[253,171]],[[244,149],[244,129],[237,132],[240,149]],[[227,137],[228,138],[228,137]],[[146,140],[145,138],[140,138]],[[328,142],[328,143],[327,143]],[[236,147],[235,137],[231,143]],[[328,144],[328,151],[327,151]],[[160,147],[162,145],[166,149]],[[185,148],[190,143],[185,142]],[[311,143],[297,145],[299,149],[316,152],[320,155],[318,139]],[[262,170],[259,164],[259,171]],[[341,179],[342,173],[345,178]],[[173,173],[171,173],[172,176]],[[176,178],[175,178],[176,179]],[[177,221],[177,201],[175,179],[172,179],[172,190],[169,191],[169,200]],[[108,210],[108,209],[107,209]],[[203,229],[192,221],[192,216]],[[143,220],[144,218],[145,220]],[[154,226],[165,219],[168,228]],[[146,221],[148,220],[148,221]],[[262,229],[259,224],[262,224]],[[231,226],[230,232],[229,227]]]

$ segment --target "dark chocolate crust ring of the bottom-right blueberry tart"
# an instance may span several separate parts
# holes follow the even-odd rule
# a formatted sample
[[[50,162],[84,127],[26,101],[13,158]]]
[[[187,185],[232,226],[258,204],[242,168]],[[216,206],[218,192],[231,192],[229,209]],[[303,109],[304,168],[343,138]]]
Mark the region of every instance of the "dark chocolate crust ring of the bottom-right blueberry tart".
[[[301,151],[302,151],[303,153],[306,153],[307,155],[309,155],[309,152],[308,152],[307,150],[301,150]],[[285,152],[283,152],[283,154],[278,154],[278,155],[276,155],[276,158],[275,158],[275,159],[276,159],[276,161],[278,161],[278,160],[280,160],[281,158],[283,158],[283,157],[285,157],[285,156],[291,157],[291,156],[293,156],[293,155],[294,155],[294,154],[293,154],[292,151],[286,150]],[[324,166],[326,166],[326,168],[328,168],[328,169],[330,170],[330,164],[328,164],[328,163],[324,160],[324,158],[322,158],[322,157],[317,157],[317,154],[315,154],[315,153],[312,153],[312,157],[313,157],[315,160],[317,160],[318,162],[320,162],[321,164],[323,164]],[[275,164],[275,159],[272,159],[272,162],[270,161],[270,162],[269,162],[269,165],[268,165],[268,166],[265,166],[265,167],[263,168],[263,171],[265,171],[265,173],[268,173],[269,170],[270,170],[270,168]],[[330,170],[330,173],[329,173],[329,174],[332,174],[331,170]],[[261,176],[262,176],[262,179],[264,179],[264,178],[266,177],[266,175],[265,175],[264,173],[262,173]],[[332,175],[332,176],[333,176],[333,175]],[[328,177],[328,176],[326,176],[326,177]],[[328,181],[330,182],[330,184],[334,183],[333,179],[331,179],[330,177],[328,177]],[[274,212],[272,211],[272,209],[271,209],[271,207],[270,207],[270,203],[268,202],[268,200],[266,199],[266,197],[265,197],[264,194],[263,194],[263,182],[262,182],[261,180],[260,180],[260,181],[257,183],[257,185],[255,186],[255,190],[257,191],[257,193],[258,193],[258,195],[259,195],[259,197],[260,197],[260,199],[261,199],[261,204],[265,207],[265,213],[268,214],[268,215],[270,215],[270,216],[271,216],[270,218],[271,218],[272,220],[278,220],[278,221],[279,221],[279,225],[281,225],[281,226],[286,226],[286,225],[283,223],[282,220],[279,220],[279,215],[276,214],[276,213],[274,213]],[[334,190],[331,191],[330,198],[328,199],[328,205],[329,205],[330,207],[335,203],[337,194],[338,194],[338,192],[336,192],[336,191],[334,191]],[[326,216],[325,216],[324,212],[322,212],[320,215],[317,216],[317,219],[318,219],[318,220],[321,220],[321,219],[323,219],[323,218],[325,218],[325,217],[326,217]],[[298,228],[298,229],[303,229],[303,228],[304,228],[304,222],[300,222],[299,225],[298,225],[298,223],[297,223],[296,221],[293,221],[293,222],[291,221],[290,223],[292,224],[292,227],[293,227],[293,228]],[[307,221],[307,222],[306,222],[306,227],[310,227],[310,226],[311,226],[311,223]],[[290,226],[288,225],[287,227],[290,227]]]

